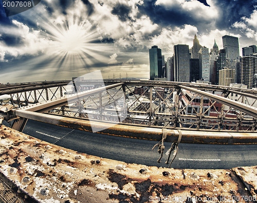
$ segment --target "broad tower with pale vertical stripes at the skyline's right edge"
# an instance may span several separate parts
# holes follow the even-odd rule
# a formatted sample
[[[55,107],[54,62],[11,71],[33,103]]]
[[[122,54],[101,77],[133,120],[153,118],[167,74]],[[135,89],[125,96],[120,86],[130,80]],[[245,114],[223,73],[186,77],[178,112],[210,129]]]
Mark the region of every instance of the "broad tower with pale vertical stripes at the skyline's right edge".
[[[254,87],[255,73],[257,73],[257,57],[243,56],[241,83],[247,85],[247,88],[252,89]]]

